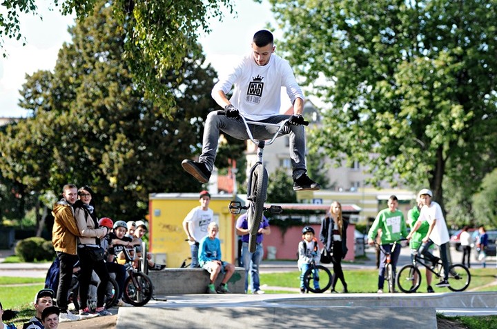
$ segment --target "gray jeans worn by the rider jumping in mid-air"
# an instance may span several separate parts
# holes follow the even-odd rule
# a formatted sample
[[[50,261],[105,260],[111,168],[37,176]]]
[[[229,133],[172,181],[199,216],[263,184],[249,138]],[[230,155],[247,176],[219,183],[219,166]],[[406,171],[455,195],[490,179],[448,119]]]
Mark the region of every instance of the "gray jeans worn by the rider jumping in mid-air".
[[[284,119],[288,119],[289,115],[279,114],[260,122],[279,123]],[[255,139],[271,139],[277,127],[265,126],[250,126],[252,135]],[[202,146],[202,154],[199,157],[200,162],[206,163],[208,168],[212,170],[217,151],[217,141],[220,137],[220,131],[234,137],[236,139],[246,140],[249,135],[246,133],[246,128],[242,119],[228,118],[225,115],[218,115],[217,111],[213,111],[207,115],[206,125],[204,128],[204,140]],[[305,131],[304,126],[284,126],[280,136],[289,135],[290,139],[290,158],[293,167],[293,179],[299,177],[306,172],[305,166]]]

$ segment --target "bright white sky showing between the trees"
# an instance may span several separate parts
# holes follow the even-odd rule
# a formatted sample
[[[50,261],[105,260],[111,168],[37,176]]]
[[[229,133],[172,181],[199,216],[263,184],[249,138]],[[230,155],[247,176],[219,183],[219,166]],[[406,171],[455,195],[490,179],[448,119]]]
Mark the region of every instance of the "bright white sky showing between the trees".
[[[26,117],[28,111],[17,106],[19,90],[26,82],[26,74],[37,70],[53,70],[57,53],[64,42],[70,42],[68,26],[74,25],[74,17],[64,17],[53,8],[52,1],[37,0],[38,11],[43,20],[32,14],[21,16],[22,41],[6,39],[7,58],[0,56],[0,117]],[[257,30],[273,22],[273,14],[267,1],[262,4],[251,0],[235,2],[236,14],[226,13],[224,19],[211,21],[210,34],[202,34],[199,41],[204,47],[206,59],[222,75],[232,63],[251,49],[251,40]],[[0,13],[3,8],[0,7]],[[277,38],[277,32],[275,32]],[[277,41],[276,41],[277,42]]]

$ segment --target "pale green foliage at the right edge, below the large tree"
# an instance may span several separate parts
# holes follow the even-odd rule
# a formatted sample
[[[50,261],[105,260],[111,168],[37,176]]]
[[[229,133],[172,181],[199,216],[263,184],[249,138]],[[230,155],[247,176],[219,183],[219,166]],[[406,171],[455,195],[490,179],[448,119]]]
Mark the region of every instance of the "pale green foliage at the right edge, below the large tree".
[[[497,226],[497,169],[487,174],[473,196],[476,225]]]

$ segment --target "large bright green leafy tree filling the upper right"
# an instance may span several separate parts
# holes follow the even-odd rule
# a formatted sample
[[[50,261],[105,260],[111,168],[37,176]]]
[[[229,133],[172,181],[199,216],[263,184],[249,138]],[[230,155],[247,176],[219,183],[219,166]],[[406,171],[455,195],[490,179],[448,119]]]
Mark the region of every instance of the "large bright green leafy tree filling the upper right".
[[[329,104],[315,134],[329,157],[429,186],[442,208],[445,177],[474,190],[495,168],[495,0],[270,2],[280,48]]]

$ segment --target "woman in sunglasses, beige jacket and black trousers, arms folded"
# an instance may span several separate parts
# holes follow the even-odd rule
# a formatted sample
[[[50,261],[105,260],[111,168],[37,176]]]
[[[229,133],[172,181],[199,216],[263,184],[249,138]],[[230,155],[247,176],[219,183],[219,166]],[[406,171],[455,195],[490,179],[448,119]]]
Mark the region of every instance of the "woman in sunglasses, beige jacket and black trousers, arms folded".
[[[73,205],[77,227],[81,235],[78,237],[78,256],[79,266],[81,267],[79,274],[81,309],[79,310],[79,315],[81,316],[112,314],[104,307],[109,274],[104,255],[101,253],[103,249],[100,246],[100,239],[106,236],[108,228],[99,228],[98,217],[95,213],[95,203],[92,199],[93,195],[91,188],[84,186],[78,190],[78,200]],[[95,313],[88,308],[88,288],[93,270],[95,270],[100,279]]]

